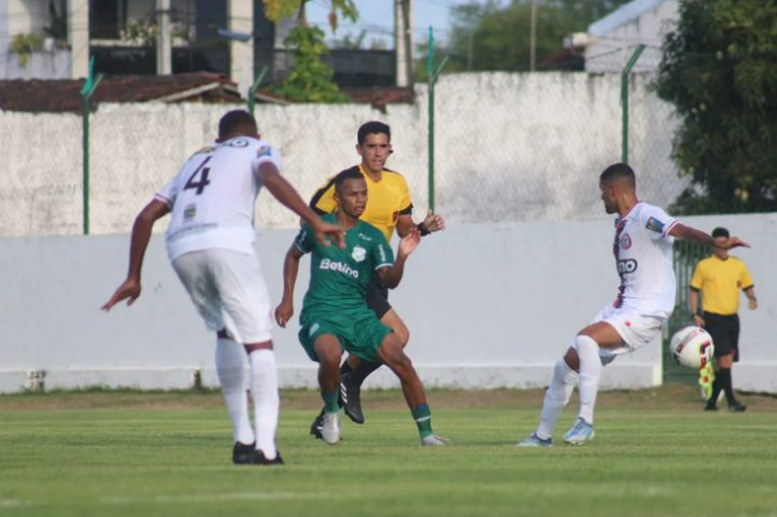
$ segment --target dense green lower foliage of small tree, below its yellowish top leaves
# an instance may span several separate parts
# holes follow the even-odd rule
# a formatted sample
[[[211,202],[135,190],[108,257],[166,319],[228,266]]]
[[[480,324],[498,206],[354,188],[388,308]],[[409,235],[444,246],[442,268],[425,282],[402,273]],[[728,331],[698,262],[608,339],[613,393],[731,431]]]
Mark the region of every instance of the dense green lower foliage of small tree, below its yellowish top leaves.
[[[321,61],[326,52],[321,29],[297,26],[289,33],[286,44],[295,50],[295,64],[289,76],[271,88],[274,92],[299,102],[348,101],[332,80],[334,70]]]

